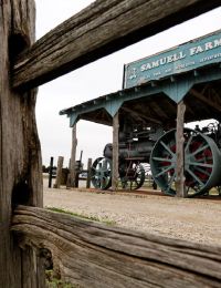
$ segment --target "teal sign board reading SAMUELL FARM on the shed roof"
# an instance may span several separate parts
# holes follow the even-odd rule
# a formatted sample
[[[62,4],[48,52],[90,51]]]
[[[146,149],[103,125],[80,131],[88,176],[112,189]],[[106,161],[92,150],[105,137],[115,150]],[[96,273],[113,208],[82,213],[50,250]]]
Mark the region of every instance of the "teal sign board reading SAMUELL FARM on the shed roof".
[[[221,61],[221,30],[128,63],[124,71],[124,89],[160,80]]]

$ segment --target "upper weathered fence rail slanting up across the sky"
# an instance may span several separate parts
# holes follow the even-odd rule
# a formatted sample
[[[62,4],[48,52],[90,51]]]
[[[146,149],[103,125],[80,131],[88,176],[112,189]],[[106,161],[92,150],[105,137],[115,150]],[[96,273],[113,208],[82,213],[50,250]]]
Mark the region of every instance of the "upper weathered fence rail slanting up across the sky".
[[[97,0],[22,53],[12,85],[38,86],[215,7],[220,0]]]

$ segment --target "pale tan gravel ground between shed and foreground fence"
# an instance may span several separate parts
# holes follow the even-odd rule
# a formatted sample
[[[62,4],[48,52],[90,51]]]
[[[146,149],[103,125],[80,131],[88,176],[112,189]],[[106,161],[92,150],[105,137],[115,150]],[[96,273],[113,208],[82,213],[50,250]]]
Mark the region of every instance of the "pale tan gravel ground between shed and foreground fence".
[[[221,200],[44,187],[44,206],[129,229],[221,246]]]

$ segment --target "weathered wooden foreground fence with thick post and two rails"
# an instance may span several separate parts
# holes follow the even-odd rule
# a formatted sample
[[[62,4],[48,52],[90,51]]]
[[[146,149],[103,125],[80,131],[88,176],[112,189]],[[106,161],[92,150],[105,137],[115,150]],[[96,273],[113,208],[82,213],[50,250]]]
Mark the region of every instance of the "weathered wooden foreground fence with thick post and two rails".
[[[42,247],[67,280],[86,287],[219,287],[219,248],[31,207],[43,206],[43,193],[36,91],[30,90],[219,6],[97,0],[34,43],[34,1],[0,0],[0,287],[44,287]],[[19,204],[27,207],[14,210]]]

